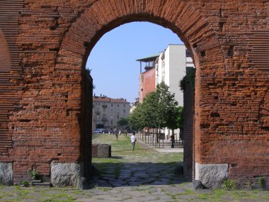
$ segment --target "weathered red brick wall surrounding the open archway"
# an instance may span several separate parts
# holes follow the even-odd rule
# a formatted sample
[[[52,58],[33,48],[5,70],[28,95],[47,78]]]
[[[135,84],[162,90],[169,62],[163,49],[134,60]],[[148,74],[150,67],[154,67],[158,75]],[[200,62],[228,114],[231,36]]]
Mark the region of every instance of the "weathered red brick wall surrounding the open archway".
[[[6,0],[0,4],[1,11],[8,11],[0,12],[0,19],[12,20],[0,22],[11,55],[11,72],[0,72],[6,79],[0,88],[8,98],[0,103],[0,108],[7,106],[6,123],[1,125],[4,136],[12,138],[12,148],[1,151],[0,162],[13,162],[15,182],[30,167],[49,175],[52,161],[83,161],[81,69],[104,33],[132,21],[170,28],[193,55],[195,162],[229,164],[229,176],[241,182],[269,176],[268,61],[263,60],[269,54],[265,48],[269,2]],[[12,18],[9,11],[15,12]]]

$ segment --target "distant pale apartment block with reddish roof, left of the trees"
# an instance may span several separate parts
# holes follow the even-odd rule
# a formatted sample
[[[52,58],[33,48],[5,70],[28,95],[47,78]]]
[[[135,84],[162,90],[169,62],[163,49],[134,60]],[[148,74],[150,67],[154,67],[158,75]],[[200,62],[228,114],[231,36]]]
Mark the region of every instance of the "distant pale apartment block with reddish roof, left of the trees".
[[[112,99],[107,96],[93,96],[93,128],[98,123],[105,128],[115,128],[120,118],[130,115],[130,103],[126,99]]]

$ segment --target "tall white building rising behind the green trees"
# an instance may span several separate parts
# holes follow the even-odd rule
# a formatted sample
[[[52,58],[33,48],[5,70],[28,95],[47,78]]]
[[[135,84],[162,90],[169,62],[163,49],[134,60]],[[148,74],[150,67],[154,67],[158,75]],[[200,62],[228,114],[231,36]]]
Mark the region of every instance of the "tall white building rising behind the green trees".
[[[155,84],[164,81],[169,86],[169,91],[175,94],[179,106],[183,106],[183,92],[179,89],[178,82],[185,76],[187,67],[194,67],[194,64],[185,45],[168,45],[155,61]],[[166,138],[171,135],[171,131],[167,129],[165,133]],[[179,130],[175,133],[178,136]],[[179,136],[176,138],[179,138]]]

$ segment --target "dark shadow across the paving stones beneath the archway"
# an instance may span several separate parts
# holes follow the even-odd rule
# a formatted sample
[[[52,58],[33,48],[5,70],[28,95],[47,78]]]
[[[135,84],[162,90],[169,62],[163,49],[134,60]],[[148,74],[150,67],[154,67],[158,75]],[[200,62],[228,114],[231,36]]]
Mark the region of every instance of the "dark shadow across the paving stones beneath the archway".
[[[153,186],[182,184],[183,162],[94,163],[98,172],[93,175],[91,187]]]

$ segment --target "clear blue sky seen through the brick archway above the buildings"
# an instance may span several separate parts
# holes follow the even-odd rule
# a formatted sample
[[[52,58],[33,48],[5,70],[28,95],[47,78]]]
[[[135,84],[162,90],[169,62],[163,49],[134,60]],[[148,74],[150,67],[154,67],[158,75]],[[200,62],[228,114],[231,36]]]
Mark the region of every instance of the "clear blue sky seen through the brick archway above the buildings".
[[[136,60],[163,51],[169,44],[182,44],[178,35],[153,23],[126,23],[105,33],[91,50],[86,64],[96,96],[138,97],[139,67]]]

